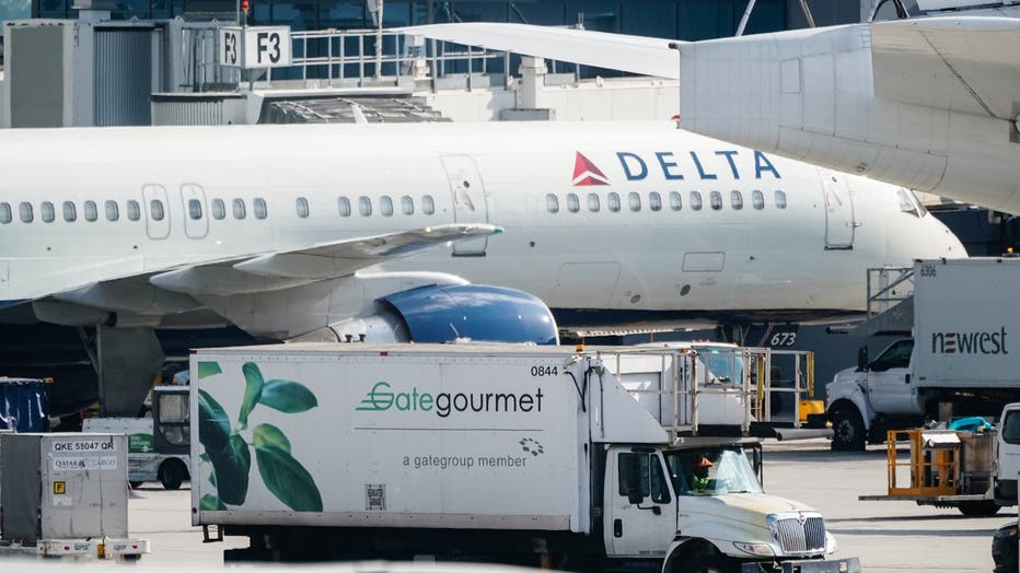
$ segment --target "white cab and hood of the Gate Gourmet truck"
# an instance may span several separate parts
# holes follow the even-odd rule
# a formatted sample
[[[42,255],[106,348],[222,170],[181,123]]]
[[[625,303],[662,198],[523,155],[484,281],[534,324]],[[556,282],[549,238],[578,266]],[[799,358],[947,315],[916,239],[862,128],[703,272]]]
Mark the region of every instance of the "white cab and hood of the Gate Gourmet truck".
[[[761,459],[756,441],[739,438],[611,446],[606,552],[664,559],[663,571],[680,573],[729,570],[744,561],[821,559],[835,551],[821,514],[764,492]]]

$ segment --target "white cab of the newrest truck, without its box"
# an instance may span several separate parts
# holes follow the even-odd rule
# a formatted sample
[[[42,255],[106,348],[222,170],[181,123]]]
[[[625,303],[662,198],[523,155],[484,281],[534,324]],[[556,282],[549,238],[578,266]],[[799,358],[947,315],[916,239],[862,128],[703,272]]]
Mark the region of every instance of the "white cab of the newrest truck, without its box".
[[[862,347],[857,367],[836,373],[826,387],[826,411],[833,425],[833,449],[862,451],[868,441],[884,438],[883,420],[908,425],[924,423],[925,405],[911,384],[914,339],[903,338],[873,360]]]

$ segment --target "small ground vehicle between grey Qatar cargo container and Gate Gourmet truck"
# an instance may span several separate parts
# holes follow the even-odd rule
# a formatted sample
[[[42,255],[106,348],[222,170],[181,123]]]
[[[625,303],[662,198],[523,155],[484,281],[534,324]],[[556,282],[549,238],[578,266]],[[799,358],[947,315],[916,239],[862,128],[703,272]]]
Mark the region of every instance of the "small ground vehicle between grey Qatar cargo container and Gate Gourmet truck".
[[[152,418],[90,418],[84,432],[123,433],[128,436],[128,480],[132,487],[159,481],[176,490],[190,479],[190,430],[186,386],[152,389]]]

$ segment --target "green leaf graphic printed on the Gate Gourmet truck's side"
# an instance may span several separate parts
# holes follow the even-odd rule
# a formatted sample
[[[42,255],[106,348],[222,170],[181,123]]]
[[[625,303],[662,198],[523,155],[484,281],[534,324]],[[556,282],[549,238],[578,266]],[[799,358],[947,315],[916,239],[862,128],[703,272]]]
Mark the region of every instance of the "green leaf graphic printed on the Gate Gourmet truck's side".
[[[259,405],[283,413],[300,413],[318,406],[315,395],[303,384],[263,377],[254,362],[241,366],[244,398],[237,412],[237,426],[206,390],[198,390],[198,441],[205,447],[201,461],[211,466],[209,482],[217,494],[201,496],[202,511],[223,511],[225,504],[241,505],[247,498],[252,469],[252,448],[263,483],[280,502],[298,512],[321,512],[322,494],[315,480],[292,454],[291,443],[282,430],[258,424],[246,441],[248,417]],[[221,374],[216,362],[199,362],[198,378]]]

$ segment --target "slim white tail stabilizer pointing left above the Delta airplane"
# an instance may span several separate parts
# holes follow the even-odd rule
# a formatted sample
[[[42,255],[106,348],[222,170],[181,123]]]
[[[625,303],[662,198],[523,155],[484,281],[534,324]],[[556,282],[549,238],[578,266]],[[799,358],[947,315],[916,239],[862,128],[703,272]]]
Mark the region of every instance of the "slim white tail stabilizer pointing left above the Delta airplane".
[[[674,40],[530,24],[472,22],[396,28],[413,36],[676,79]]]

